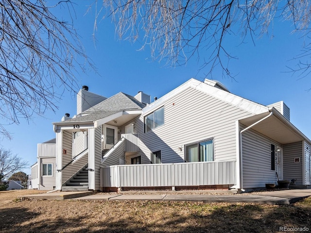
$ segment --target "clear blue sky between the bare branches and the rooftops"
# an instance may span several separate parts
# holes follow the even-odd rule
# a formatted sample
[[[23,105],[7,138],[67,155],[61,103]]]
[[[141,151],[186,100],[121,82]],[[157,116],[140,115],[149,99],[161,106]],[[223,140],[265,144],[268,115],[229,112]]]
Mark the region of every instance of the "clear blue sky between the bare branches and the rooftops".
[[[74,27],[81,36],[86,54],[97,67],[97,73],[88,70],[76,74],[81,87],[87,85],[89,91],[105,97],[119,92],[134,96],[138,91],[143,91],[151,95],[153,100],[190,78],[204,80],[208,67],[198,72],[201,61],[192,58],[186,65],[176,67],[165,66],[165,62],[153,62],[148,47],[138,51],[141,47],[139,40],[134,44],[120,41],[109,18],[98,23],[95,46],[92,35],[94,14],[85,14],[86,4],[92,1],[77,2]],[[241,44],[240,35],[230,35],[225,45],[230,54],[238,58],[230,60],[230,71],[235,75],[235,80],[223,78],[220,69],[207,78],[219,80],[231,93],[264,105],[283,100],[291,110],[291,122],[311,138],[311,92],[306,91],[311,88],[311,77],[300,79],[297,74],[286,72],[286,66],[294,67],[298,62],[292,59],[300,53],[303,45],[299,35],[291,33],[289,25],[275,21],[273,38],[271,34],[255,37],[255,45],[250,39]],[[201,57],[208,55],[206,53],[202,50]],[[45,117],[36,116],[29,123],[20,119],[19,125],[6,126],[13,139],[2,139],[1,146],[33,165],[36,162],[37,144],[55,137],[52,122],[60,121],[65,113],[70,116],[76,114],[74,93],[64,93],[56,105],[59,108],[55,114],[47,111]],[[29,174],[30,168],[24,171]]]

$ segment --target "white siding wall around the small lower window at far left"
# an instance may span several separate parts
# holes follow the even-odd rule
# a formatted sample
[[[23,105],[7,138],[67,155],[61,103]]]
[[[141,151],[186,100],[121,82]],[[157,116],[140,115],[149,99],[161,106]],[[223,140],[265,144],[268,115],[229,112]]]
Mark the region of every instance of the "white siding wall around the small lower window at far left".
[[[43,164],[52,164],[52,176],[41,176],[40,183],[39,183],[39,189],[52,190],[53,187],[56,186],[56,158],[41,158],[40,159],[41,174],[43,174],[42,172]]]

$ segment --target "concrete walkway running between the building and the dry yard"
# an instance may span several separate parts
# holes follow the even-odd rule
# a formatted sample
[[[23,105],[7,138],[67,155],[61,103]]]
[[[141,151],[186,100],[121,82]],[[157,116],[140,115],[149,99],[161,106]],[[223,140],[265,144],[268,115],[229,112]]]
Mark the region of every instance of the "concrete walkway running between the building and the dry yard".
[[[93,192],[53,192],[47,194],[36,194],[22,196],[20,198],[27,199],[48,199],[48,200],[101,200],[101,201],[122,201],[122,200],[157,200],[157,201],[202,201],[212,202],[228,202],[228,203],[259,203],[272,205],[289,205],[298,200],[311,196],[311,189],[289,189],[281,191],[265,191],[247,194],[215,194],[201,192],[200,194],[191,194],[189,192],[175,191],[165,192],[163,194],[96,194]],[[193,193],[197,193],[193,191]]]

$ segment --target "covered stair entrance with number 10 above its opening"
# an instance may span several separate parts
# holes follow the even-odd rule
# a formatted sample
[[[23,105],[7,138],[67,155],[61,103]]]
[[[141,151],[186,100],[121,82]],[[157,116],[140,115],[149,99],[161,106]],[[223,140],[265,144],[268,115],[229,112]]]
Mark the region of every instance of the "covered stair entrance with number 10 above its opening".
[[[83,190],[100,189],[103,151],[120,140],[120,127],[133,121],[140,111],[87,114],[53,123],[56,133],[56,189],[63,190],[78,173],[86,180]],[[86,120],[92,118],[93,120]],[[75,191],[79,189],[76,188]]]

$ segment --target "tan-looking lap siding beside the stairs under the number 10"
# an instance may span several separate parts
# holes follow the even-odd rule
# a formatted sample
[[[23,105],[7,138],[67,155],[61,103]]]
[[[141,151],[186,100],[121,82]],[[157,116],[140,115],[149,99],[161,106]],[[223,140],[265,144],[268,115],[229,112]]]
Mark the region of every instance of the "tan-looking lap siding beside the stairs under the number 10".
[[[63,154],[63,166],[70,163],[72,160],[71,157],[71,145],[72,145],[72,138],[71,138],[71,132],[64,131],[63,132],[63,149],[67,150],[67,154]],[[83,166],[85,166],[88,162],[88,155],[86,154],[81,159],[76,161],[74,164],[69,164],[63,171],[63,183],[66,183],[66,181],[69,180],[71,176],[73,176],[77,171],[79,171]]]

